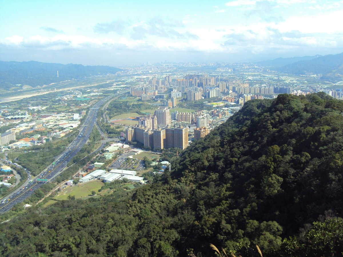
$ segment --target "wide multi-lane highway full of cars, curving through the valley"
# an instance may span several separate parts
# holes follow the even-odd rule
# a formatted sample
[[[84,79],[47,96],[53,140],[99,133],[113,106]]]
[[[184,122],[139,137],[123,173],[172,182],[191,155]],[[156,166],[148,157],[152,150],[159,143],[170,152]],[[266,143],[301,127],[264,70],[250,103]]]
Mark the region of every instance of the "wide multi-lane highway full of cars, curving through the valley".
[[[81,126],[80,132],[73,142],[66,148],[66,150],[64,150],[64,152],[62,152],[62,154],[56,157],[55,162],[52,162],[42,173],[36,177],[36,179],[34,179],[32,182],[25,182],[20,191],[13,192],[3,199],[0,203],[0,214],[10,210],[17,203],[24,201],[26,198],[31,196],[36,189],[44,185],[44,183],[54,180],[56,176],[58,176],[64,170],[64,168],[66,168],[67,163],[81,150],[83,145],[87,142],[96,122],[99,108],[106,101],[119,94],[120,93],[110,95],[98,101],[92,108],[90,108],[87,118]],[[37,179],[46,179],[47,181],[37,183]]]

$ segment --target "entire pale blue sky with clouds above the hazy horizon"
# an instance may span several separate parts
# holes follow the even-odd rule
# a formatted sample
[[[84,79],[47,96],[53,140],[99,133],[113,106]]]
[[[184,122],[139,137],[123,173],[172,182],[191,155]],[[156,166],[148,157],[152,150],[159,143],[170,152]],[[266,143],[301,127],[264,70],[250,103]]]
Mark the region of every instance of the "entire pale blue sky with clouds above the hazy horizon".
[[[237,62],[343,50],[343,1],[0,0],[0,60]]]

